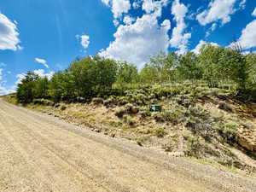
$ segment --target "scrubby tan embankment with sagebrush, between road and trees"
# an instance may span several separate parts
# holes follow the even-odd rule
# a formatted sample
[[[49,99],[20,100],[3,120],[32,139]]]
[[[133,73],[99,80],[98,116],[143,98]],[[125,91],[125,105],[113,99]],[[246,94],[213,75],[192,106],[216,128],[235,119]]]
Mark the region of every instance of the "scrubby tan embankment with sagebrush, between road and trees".
[[[15,96],[6,99],[15,102]],[[162,111],[149,111],[149,104]],[[152,85],[89,102],[35,99],[26,107],[143,148],[256,176],[256,103],[237,100],[234,90]]]

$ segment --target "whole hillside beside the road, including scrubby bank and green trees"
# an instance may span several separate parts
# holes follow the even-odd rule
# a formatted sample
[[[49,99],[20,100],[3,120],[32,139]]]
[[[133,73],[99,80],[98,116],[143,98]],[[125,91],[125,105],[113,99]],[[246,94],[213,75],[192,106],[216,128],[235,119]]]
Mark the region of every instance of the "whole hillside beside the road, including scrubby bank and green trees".
[[[159,53],[139,70],[85,56],[51,78],[27,72],[8,100],[144,148],[255,175],[256,55],[237,48]]]

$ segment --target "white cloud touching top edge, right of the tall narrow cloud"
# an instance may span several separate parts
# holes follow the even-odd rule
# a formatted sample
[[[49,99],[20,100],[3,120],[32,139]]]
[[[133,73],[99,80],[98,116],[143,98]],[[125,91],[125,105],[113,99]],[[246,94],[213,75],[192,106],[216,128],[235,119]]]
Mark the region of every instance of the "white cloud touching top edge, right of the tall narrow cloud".
[[[234,8],[236,0],[213,0],[208,9],[196,16],[202,26],[220,20],[222,24],[230,22],[230,15],[236,12]],[[244,3],[244,0],[241,0]]]

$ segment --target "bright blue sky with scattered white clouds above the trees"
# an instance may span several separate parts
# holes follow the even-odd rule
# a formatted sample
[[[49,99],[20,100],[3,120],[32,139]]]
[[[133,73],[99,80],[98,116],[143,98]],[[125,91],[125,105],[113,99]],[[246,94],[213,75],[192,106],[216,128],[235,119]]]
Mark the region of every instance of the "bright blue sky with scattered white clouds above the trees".
[[[129,61],[202,44],[256,47],[255,0],[8,0],[0,2],[0,95],[27,71],[50,76],[77,56]]]

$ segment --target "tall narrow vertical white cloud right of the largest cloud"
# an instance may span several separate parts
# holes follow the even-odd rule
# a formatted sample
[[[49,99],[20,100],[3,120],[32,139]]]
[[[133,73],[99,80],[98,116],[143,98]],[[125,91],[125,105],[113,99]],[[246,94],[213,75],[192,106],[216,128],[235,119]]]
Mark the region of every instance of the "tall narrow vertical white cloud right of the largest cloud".
[[[184,33],[187,27],[184,18],[187,13],[188,8],[183,3],[180,3],[179,0],[175,0],[172,3],[172,15],[174,15],[174,20],[176,20],[177,26],[172,31],[170,45],[179,49],[178,53],[180,54],[183,54],[188,50],[187,45],[189,43],[189,38],[191,38],[191,33]]]

